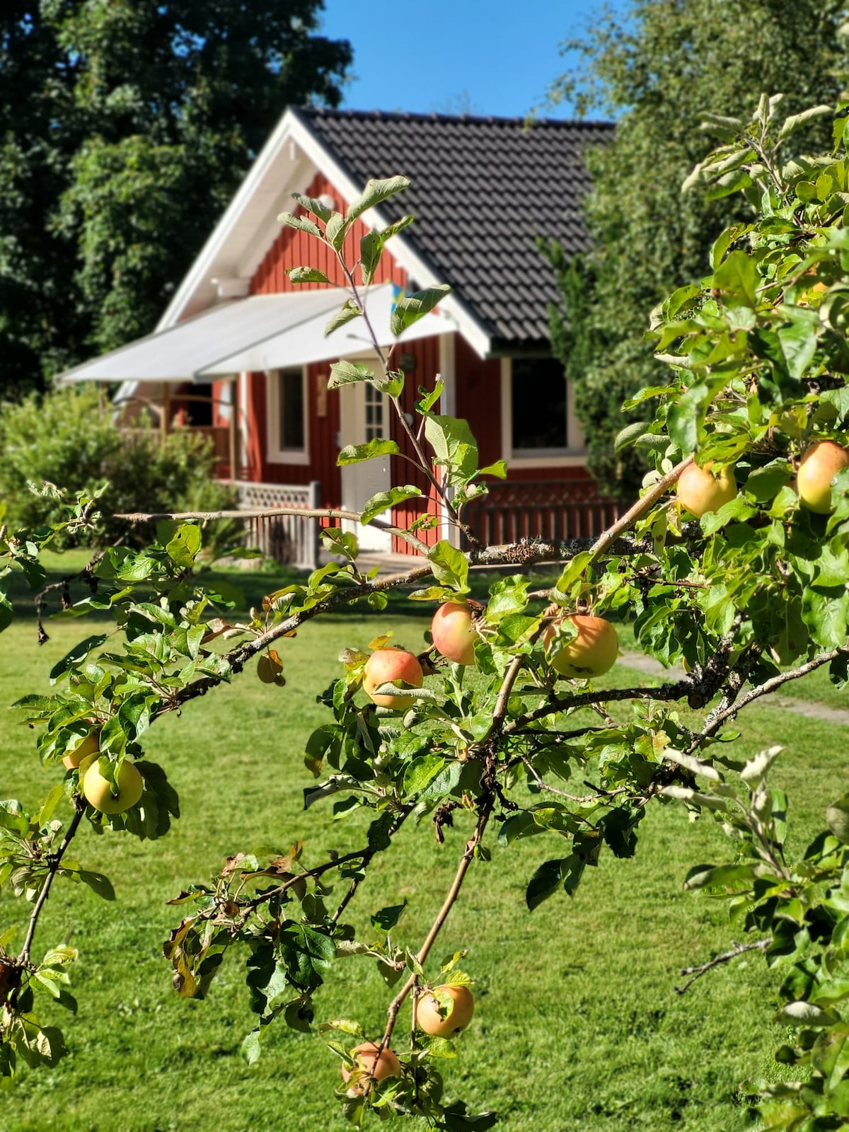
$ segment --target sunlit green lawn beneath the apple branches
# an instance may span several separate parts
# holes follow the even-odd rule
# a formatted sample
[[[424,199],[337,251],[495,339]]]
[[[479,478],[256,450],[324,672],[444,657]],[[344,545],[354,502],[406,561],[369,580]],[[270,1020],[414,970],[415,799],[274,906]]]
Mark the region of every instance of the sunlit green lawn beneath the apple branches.
[[[238,582],[246,602],[278,584],[268,574]],[[342,646],[365,645],[392,628],[415,648],[424,627],[421,616],[366,611],[310,623],[281,650],[285,688],[248,671],[152,729],[148,756],[168,769],[183,816],[154,843],[96,838],[87,829],[80,834],[77,856],[108,873],[117,901],[57,884],[38,942],[46,947],[72,933],[80,951],[79,1012],[55,1019],[70,1055],[53,1071],[26,1073],[3,1097],[0,1132],[348,1126],[332,1096],[337,1063],[319,1038],[280,1024],[256,1065],[242,1061],[239,1046],[254,1020],[238,962],[225,967],[206,1002],[182,1001],[170,988],[161,945],[180,909],[165,901],[240,849],[303,839],[307,860],[317,861],[328,848],[361,843],[358,818],[334,823],[329,804],[302,811],[301,790],[312,781],[303,744],[324,721],[315,691],[336,675]],[[41,649],[26,618],[3,634],[0,704],[46,689],[50,667],[86,635],[74,621],[48,629],[51,640]],[[635,678],[645,679],[625,670],[616,677]],[[775,784],[790,794],[791,849],[798,851],[844,789],[844,732],[811,720],[788,728],[787,719],[779,710],[753,709],[735,746],[751,754],[777,737],[786,743]],[[34,807],[55,777],[40,766],[32,734],[0,715],[2,796]],[[406,899],[398,936],[414,947],[468,833],[458,822],[440,848],[429,823],[405,829],[363,885],[351,918],[365,926],[376,909]],[[443,955],[468,947],[464,967],[478,980],[474,1022],[457,1060],[444,1063],[447,1095],[496,1108],[508,1132],[751,1127],[738,1084],[775,1071],[771,1050],[782,1035],[765,1024],[778,1001],[775,977],[758,958],[718,969],[684,997],[672,989],[683,966],[723,949],[732,934],[721,903],[681,890],[691,865],[729,852],[718,825],[709,818],[692,824],[681,807],[658,806],[643,824],[635,859],[602,856],[573,899],[556,897],[529,914],[528,877],[560,851],[557,841],[539,838],[494,848],[490,864],[473,866],[436,949]],[[22,911],[11,900],[0,902],[0,927]],[[358,1017],[377,1034],[387,1000],[372,964],[352,959],[337,964],[324,988],[319,1018]]]

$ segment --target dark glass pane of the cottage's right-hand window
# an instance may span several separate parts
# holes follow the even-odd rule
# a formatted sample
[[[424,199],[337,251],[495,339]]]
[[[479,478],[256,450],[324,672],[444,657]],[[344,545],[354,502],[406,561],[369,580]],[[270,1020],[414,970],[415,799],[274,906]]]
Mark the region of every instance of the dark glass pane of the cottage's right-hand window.
[[[554,358],[514,358],[513,451],[563,449],[566,437],[566,378]]]

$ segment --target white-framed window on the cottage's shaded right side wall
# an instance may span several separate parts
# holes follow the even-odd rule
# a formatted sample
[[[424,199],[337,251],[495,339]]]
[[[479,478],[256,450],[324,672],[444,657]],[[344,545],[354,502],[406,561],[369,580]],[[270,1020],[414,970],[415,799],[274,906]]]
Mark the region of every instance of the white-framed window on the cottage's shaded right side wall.
[[[584,440],[572,392],[555,358],[501,362],[504,458],[525,466],[583,463]]]

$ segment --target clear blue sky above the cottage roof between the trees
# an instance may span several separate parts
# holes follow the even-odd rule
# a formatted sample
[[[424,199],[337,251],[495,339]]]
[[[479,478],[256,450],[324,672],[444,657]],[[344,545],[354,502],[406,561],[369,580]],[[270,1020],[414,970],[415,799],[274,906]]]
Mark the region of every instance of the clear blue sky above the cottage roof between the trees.
[[[615,0],[621,8],[624,0]],[[350,110],[523,115],[540,105],[602,0],[325,0],[323,31],[351,41]],[[565,117],[567,105],[551,113]]]

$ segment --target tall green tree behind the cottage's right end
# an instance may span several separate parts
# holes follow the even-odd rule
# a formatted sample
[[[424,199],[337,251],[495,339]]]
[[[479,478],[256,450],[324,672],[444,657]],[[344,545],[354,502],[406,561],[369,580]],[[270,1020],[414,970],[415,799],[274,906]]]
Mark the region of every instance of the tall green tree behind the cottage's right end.
[[[618,125],[615,138],[589,154],[593,252],[568,261],[549,248],[563,297],[552,341],[575,383],[591,470],[616,495],[633,495],[642,472],[633,448],[614,451],[627,421],[620,405],[667,380],[643,337],[650,311],[705,274],[711,242],[749,215],[738,195],[681,194],[705,146],[698,125],[705,113],[739,113],[764,91],[784,93],[786,114],[837,102],[849,69],[846,18],[844,0],[629,0],[564,44],[582,61],[556,80],[551,102],[572,100],[582,117]],[[815,122],[792,145],[816,151],[827,145],[827,129]]]

